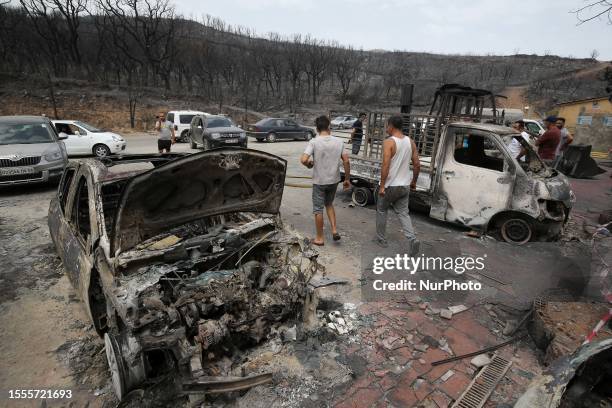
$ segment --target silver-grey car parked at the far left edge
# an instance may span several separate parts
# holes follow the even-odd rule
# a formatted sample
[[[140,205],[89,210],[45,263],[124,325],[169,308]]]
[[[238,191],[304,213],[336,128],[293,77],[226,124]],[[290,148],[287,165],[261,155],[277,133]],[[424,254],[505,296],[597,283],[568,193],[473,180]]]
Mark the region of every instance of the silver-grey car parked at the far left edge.
[[[0,185],[57,180],[66,146],[43,116],[0,116]]]

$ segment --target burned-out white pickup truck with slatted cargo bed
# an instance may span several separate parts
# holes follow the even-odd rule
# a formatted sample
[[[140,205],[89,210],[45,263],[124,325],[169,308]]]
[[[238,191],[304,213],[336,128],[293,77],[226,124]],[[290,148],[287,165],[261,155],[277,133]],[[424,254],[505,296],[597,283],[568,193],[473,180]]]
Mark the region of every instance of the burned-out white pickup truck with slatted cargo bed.
[[[440,110],[402,115],[404,134],[415,141],[421,162],[411,206],[510,243],[556,239],[575,201],[567,178],[546,166],[517,131],[496,124],[498,116],[482,115],[484,99],[492,96],[488,91],[442,91]],[[390,115],[370,113],[363,151],[350,155],[356,205],[372,203],[378,195]],[[522,159],[510,150],[512,143],[524,149]]]

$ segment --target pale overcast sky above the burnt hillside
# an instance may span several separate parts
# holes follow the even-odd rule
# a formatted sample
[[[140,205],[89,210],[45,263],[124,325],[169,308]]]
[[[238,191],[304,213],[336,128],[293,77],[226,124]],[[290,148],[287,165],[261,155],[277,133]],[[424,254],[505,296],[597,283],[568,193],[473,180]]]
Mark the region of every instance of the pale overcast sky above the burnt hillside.
[[[584,0],[174,0],[258,34],[311,34],[363,49],[544,54],[612,60],[607,19],[577,26]]]

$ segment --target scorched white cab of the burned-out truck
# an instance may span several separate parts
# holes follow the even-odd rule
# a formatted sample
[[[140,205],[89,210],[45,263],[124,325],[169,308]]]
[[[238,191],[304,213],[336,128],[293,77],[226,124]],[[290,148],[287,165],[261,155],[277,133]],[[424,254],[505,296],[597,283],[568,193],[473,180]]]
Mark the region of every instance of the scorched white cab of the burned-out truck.
[[[513,157],[515,139],[525,160]],[[575,201],[565,176],[547,167],[513,129],[457,122],[442,132],[430,172],[429,215],[523,244],[556,238]]]

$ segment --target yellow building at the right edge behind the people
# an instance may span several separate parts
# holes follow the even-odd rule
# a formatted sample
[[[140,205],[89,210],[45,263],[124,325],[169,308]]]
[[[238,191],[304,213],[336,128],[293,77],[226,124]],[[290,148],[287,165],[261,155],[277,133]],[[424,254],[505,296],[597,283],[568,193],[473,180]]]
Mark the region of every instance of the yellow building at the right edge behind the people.
[[[556,111],[557,116],[565,118],[565,126],[570,130],[575,130],[576,125],[592,126],[599,121],[604,127],[612,127],[612,102],[607,97],[560,103]]]

